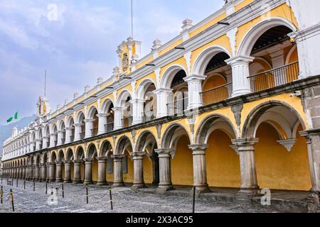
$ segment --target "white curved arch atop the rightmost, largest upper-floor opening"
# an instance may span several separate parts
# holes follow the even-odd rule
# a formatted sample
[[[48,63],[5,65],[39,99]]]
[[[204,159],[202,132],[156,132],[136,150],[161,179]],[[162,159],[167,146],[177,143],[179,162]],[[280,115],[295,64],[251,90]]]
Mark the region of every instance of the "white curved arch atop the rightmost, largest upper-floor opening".
[[[274,17],[267,18],[259,23],[255,24],[250,31],[247,32],[245,37],[242,39],[239,48],[238,55],[250,56],[253,46],[255,45],[260,35],[268,31],[270,28],[275,26],[287,26],[292,31],[297,31],[296,26],[293,23],[287,21],[284,18]]]

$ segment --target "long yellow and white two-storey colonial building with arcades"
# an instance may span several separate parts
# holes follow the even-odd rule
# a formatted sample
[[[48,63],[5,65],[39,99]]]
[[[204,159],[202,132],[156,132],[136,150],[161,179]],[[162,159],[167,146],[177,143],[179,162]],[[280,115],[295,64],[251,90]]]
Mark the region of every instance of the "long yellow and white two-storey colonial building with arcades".
[[[35,181],[320,189],[320,3],[234,0],[72,101],[14,128],[4,177]]]

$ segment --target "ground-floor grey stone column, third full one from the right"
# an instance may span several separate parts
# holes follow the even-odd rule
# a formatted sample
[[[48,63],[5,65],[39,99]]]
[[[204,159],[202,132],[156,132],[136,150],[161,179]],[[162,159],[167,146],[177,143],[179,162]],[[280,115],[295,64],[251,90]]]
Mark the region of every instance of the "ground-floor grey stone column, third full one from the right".
[[[171,182],[171,151],[166,149],[155,149],[159,155],[159,187],[160,191],[174,189]]]

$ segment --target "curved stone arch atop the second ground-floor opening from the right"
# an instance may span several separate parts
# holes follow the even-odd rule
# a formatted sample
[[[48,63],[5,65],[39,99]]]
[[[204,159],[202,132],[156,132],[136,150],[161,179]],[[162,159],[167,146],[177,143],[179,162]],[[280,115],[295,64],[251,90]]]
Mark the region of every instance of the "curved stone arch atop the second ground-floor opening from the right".
[[[213,114],[207,116],[203,121],[201,121],[198,131],[196,132],[196,144],[208,143],[210,133],[217,129],[225,132],[231,139],[238,137],[233,123],[229,118],[220,114]]]

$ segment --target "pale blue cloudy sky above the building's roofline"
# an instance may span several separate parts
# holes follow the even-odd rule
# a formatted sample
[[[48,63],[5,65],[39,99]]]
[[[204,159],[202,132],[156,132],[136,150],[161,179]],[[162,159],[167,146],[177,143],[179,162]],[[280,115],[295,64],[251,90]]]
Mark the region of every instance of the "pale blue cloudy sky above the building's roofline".
[[[52,7],[58,9],[53,18]],[[134,0],[134,38],[149,53],[223,6],[223,0]],[[130,0],[0,0],[0,124],[36,112],[48,71],[52,109],[82,94],[97,77],[108,79],[117,65],[116,49],[131,33]]]

